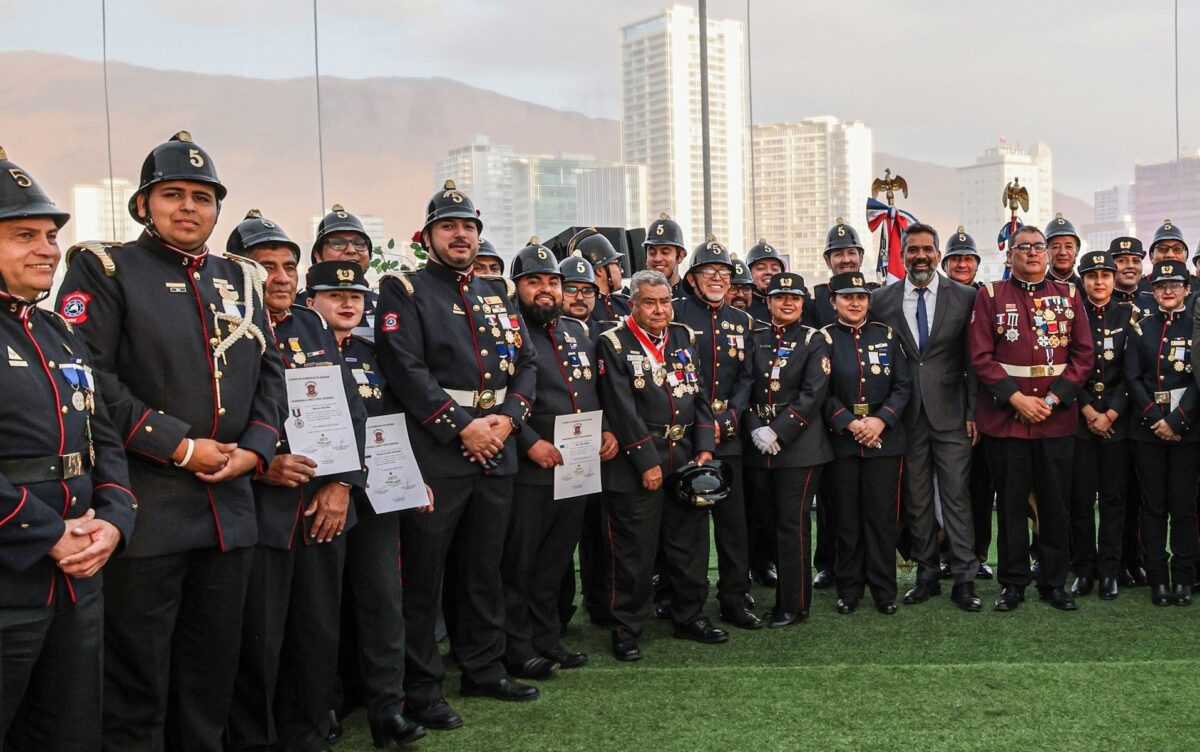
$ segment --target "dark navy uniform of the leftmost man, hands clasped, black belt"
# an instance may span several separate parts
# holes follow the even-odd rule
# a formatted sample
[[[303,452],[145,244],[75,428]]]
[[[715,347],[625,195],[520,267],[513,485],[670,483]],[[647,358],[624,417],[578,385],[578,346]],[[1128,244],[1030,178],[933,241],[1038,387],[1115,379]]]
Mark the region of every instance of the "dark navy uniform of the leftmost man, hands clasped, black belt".
[[[94,510],[133,535],[137,501],[92,360],[58,315],[0,293],[0,747],[100,747],[104,571],[49,558]],[[100,391],[101,393],[97,393]]]

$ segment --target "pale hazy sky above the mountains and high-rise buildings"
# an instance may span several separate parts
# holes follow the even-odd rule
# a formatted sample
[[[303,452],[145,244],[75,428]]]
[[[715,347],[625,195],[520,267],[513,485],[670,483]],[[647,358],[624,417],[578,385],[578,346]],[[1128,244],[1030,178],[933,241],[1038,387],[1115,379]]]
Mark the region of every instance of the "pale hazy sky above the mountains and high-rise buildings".
[[[647,0],[322,0],[322,73],[444,76],[618,114],[623,25]],[[745,18],[745,0],[712,0]],[[1200,1],[1180,2],[1182,146],[1200,148]],[[0,50],[101,58],[100,0],[0,0]],[[68,10],[70,8],[70,10]],[[1170,0],[751,0],[756,122],[833,114],[876,149],[959,166],[1001,136],[1050,144],[1055,187],[1092,192],[1175,154]],[[307,0],[109,0],[108,54],[158,68],[311,76]],[[4,71],[0,71],[4,76]],[[486,119],[480,124],[486,132]]]

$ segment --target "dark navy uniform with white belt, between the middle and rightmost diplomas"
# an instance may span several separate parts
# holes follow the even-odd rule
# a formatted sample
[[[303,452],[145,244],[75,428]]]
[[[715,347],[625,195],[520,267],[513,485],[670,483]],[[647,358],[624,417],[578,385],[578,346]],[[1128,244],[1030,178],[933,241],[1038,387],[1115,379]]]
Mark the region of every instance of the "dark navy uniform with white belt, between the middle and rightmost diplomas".
[[[463,685],[506,676],[499,564],[517,470],[516,435],[485,470],[462,456],[458,433],[485,415],[517,423],[527,417],[536,383],[534,348],[505,281],[431,260],[415,273],[384,277],[376,355],[434,493],[436,511],[401,512],[404,691],[410,703],[425,705],[442,698],[445,678],[434,638],[444,572],[452,573],[457,594],[450,638]]]

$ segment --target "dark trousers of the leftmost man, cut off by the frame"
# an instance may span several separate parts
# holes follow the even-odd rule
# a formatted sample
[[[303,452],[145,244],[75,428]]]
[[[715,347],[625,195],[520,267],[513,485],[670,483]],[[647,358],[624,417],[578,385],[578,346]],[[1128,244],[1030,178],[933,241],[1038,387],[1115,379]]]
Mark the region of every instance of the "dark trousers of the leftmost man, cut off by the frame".
[[[72,603],[61,579],[56,585],[48,606],[0,608],[0,750],[101,747],[103,596],[95,590]]]

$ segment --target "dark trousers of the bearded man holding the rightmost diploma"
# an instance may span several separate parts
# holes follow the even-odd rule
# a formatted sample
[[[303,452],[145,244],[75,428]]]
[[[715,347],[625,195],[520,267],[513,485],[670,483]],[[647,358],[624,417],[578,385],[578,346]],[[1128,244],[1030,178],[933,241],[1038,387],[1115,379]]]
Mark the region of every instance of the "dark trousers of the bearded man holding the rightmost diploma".
[[[516,483],[504,543],[505,661],[517,667],[559,649],[558,597],[583,523],[584,497],[554,499],[553,486]]]

